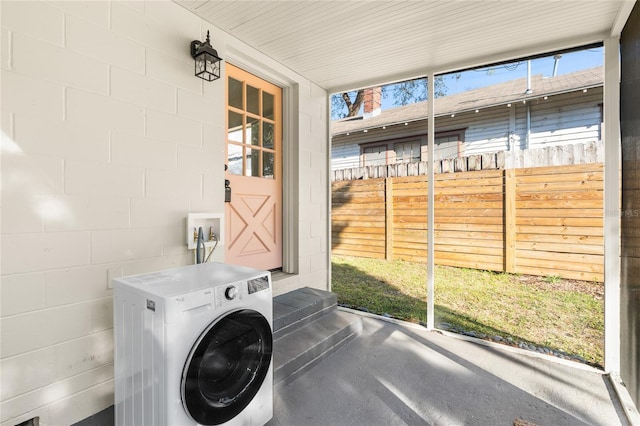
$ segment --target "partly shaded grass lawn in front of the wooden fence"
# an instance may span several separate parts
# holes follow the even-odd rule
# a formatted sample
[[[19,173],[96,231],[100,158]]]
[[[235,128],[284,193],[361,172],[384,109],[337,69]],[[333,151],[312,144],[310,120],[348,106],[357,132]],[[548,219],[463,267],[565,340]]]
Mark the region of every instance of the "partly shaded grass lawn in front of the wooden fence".
[[[411,322],[426,322],[424,264],[346,256],[332,258],[338,303]],[[557,277],[512,275],[436,266],[437,328],[500,336],[604,359],[604,286]]]

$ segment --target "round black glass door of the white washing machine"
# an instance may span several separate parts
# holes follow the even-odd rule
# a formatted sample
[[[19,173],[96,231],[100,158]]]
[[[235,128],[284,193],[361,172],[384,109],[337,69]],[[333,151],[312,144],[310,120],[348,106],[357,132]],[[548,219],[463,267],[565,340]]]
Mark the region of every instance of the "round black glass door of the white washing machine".
[[[182,402],[202,425],[218,425],[249,405],[264,381],[273,349],[269,322],[245,309],[211,324],[182,373]]]

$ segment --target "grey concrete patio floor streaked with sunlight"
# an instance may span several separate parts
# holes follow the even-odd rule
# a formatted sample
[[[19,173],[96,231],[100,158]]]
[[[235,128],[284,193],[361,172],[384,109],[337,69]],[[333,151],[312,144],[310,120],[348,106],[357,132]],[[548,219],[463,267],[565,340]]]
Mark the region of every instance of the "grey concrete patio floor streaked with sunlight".
[[[275,389],[270,426],[629,424],[609,377],[588,366],[362,321],[359,336]]]

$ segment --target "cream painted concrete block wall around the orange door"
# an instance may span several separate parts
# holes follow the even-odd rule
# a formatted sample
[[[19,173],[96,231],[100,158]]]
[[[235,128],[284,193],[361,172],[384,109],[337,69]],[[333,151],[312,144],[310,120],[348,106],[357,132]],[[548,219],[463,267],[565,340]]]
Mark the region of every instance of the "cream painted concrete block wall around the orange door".
[[[326,288],[323,89],[167,0],[2,1],[0,18],[2,426],[111,406],[110,280],[193,263],[187,214],[224,211],[224,80],[194,77],[188,49],[207,30],[298,88],[298,274],[279,291]]]

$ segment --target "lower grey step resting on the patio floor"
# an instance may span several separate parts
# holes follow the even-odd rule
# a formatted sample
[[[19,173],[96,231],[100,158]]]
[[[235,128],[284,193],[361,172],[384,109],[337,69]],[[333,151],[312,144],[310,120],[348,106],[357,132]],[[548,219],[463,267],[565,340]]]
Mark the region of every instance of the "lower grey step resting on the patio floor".
[[[361,331],[360,316],[334,309],[275,340],[274,386],[278,387],[295,380]]]

